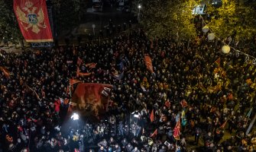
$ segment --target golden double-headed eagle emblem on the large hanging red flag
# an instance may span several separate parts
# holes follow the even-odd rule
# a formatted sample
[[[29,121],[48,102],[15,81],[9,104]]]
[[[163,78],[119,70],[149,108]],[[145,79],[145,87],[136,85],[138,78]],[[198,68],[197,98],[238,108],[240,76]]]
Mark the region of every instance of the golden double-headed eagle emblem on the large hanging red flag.
[[[34,4],[32,2],[26,2],[26,7],[22,8],[22,10],[24,11],[21,11],[21,8],[17,6],[17,17],[18,20],[21,21],[21,25],[22,27],[24,27],[24,30],[28,31],[28,29],[32,27],[32,31],[34,33],[39,33],[39,27],[47,27],[44,23],[44,11],[42,10],[42,8],[39,8],[39,11],[37,11],[37,7],[34,7],[33,5]],[[35,11],[37,11],[37,14],[35,13]]]

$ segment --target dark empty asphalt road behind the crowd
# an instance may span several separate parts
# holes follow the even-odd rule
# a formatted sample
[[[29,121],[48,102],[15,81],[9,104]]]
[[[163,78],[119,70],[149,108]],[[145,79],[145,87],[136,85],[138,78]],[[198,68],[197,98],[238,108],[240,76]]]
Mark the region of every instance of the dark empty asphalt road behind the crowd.
[[[118,25],[122,27],[126,24],[128,29],[129,21],[131,21],[134,27],[137,24],[137,18],[134,14],[118,11],[118,8],[106,6],[103,7],[102,12],[93,12],[92,8],[88,8],[86,14],[83,15],[81,24],[78,24],[72,31],[63,32],[59,36],[59,44],[65,44],[65,38],[70,39],[70,44],[77,44],[77,36],[82,38],[82,44],[90,39],[99,39],[99,31],[102,30],[103,37],[106,37],[106,28],[109,27],[109,20],[112,20],[112,25],[115,25],[116,31],[118,31]],[[92,24],[95,25],[94,32]],[[111,30],[111,29],[110,29]]]

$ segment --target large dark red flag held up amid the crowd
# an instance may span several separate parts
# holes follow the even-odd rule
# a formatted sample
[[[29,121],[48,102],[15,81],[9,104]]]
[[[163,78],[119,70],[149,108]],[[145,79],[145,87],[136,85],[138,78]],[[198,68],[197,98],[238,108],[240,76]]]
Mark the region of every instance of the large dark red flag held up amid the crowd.
[[[76,87],[72,96],[71,105],[79,111],[105,112],[109,106],[109,97],[112,90],[111,84],[81,83]]]

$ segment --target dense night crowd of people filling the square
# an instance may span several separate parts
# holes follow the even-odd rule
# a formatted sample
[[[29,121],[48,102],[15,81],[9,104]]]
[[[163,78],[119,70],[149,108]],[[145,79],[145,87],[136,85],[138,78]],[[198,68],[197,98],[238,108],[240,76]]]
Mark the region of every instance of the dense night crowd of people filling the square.
[[[221,47],[206,36],[149,40],[136,30],[100,44],[2,51],[0,151],[254,151],[256,134],[245,133],[255,113],[254,62]],[[80,65],[89,76],[76,77],[78,58],[97,63]],[[70,78],[114,86],[99,121],[61,127]]]

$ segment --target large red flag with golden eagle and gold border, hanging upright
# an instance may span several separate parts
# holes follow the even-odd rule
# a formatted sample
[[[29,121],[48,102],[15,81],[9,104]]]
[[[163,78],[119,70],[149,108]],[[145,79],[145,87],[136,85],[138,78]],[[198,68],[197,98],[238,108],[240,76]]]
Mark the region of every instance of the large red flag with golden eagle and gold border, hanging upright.
[[[13,9],[28,43],[53,42],[45,0],[14,0]]]

